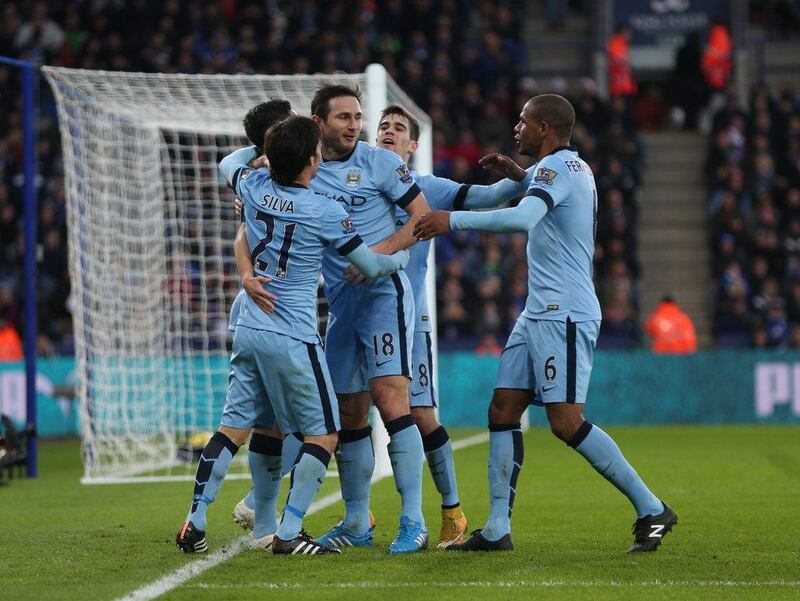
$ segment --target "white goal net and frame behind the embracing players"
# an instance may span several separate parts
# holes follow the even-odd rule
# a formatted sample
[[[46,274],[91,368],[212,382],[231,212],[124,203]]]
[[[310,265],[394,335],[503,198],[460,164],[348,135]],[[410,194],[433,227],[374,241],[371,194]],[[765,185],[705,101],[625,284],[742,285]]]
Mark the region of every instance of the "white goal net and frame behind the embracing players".
[[[388,103],[420,120],[421,173],[430,120],[378,65],[313,76],[43,72],[64,157],[83,481],[191,475],[181,458],[217,428],[227,388],[238,221],[217,165],[248,143],[244,114],[285,98],[307,115],[321,82],[357,84],[368,141]]]

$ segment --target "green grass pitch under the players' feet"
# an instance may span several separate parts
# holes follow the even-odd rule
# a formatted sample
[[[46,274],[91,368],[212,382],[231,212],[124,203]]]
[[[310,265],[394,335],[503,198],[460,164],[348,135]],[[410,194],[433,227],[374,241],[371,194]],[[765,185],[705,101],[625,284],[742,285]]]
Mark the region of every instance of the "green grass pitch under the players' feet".
[[[399,502],[373,487],[376,547],[341,557],[247,550],[168,591],[165,599],[800,599],[800,429],[609,428],[680,523],[657,553],[624,553],[627,500],[544,429],[525,435],[510,553],[429,550],[390,557]],[[453,438],[475,431],[454,430]],[[41,475],[0,488],[0,599],[114,599],[197,562],[174,544],[191,483],[85,486],[75,440],[43,441]],[[486,517],[487,443],[456,452],[470,527]],[[439,528],[425,468],[425,509]],[[210,550],[241,536],[230,519],[246,481],[209,511]],[[334,492],[328,478],[321,494]],[[282,497],[282,499],[285,497]],[[307,518],[330,525],[341,504]],[[202,561],[202,560],[200,560]]]

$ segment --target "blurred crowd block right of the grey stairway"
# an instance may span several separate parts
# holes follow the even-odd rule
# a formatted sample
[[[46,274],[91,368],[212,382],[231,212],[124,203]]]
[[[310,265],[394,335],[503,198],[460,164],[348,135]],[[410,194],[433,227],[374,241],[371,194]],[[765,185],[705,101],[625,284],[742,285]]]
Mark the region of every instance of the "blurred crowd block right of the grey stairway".
[[[800,95],[714,116],[706,163],[719,346],[800,347]]]

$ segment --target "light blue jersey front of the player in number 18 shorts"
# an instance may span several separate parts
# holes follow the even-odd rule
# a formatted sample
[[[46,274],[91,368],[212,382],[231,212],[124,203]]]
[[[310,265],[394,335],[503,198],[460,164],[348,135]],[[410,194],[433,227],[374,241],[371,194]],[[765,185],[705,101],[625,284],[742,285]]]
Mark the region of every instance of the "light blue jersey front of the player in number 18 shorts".
[[[403,208],[419,194],[419,186],[394,152],[357,142],[340,161],[324,161],[311,180],[311,189],[337,201],[368,246],[395,233],[395,205]],[[347,260],[336,252],[325,254],[322,275],[329,301],[344,283]]]

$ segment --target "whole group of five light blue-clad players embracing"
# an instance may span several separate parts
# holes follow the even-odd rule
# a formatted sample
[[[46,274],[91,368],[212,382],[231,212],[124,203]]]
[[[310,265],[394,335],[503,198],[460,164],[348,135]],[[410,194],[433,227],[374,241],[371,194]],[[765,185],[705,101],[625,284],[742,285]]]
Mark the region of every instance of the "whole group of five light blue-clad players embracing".
[[[276,554],[339,554],[373,545],[375,467],[369,409],[390,437],[401,498],[389,553],[428,546],[422,464],[441,494],[437,546],[511,550],[511,511],[523,462],[520,422],[544,405],[553,433],[624,493],[637,517],[631,552],[653,551],[677,516],[642,482],[614,441],[582,415],[600,326],[592,283],[597,191],[569,148],[575,112],[554,94],[531,98],[514,129],[528,170],[481,159],[505,179],[470,186],[408,168],[419,124],[384,109],[376,146],[359,141],[357,89],[323,85],[311,118],[285,100],[250,110],[254,144],[220,163],[241,199],[234,243],[243,289],[231,309],[233,352],[219,430],[203,450],[192,504],[177,536],[187,553],[208,549],[206,512],[233,456],[250,437],[253,487],[234,509],[251,544]],[[498,207],[522,196],[513,208]],[[425,289],[429,240],[456,230],[527,232],[528,300],[501,355],[489,406],[490,512],[470,536],[450,438],[436,416]],[[329,303],[325,347],[317,333],[320,272]],[[345,513],[312,538],[303,518],[336,453]],[[281,478],[289,496],[276,514]]]

